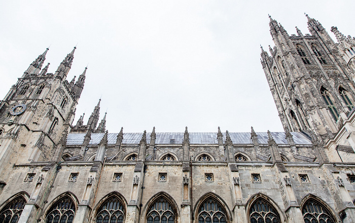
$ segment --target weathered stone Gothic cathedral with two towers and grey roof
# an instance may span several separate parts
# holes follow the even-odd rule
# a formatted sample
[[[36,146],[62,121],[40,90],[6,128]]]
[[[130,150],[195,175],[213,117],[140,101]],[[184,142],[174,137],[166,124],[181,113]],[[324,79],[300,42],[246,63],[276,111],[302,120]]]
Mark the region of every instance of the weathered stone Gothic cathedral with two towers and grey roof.
[[[0,101],[0,223],[355,222],[355,38],[269,19],[285,132],[113,133],[100,101],[73,123],[87,68],[66,80],[74,48],[48,73],[47,49]]]

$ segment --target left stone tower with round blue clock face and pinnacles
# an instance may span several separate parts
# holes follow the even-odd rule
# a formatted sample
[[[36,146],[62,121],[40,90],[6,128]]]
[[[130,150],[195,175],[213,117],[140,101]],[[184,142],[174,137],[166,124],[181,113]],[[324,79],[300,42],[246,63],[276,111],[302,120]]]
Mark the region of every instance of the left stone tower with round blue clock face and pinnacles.
[[[42,69],[47,49],[0,101],[0,172],[8,172],[15,163],[61,158],[59,147],[70,130],[85,81],[86,68],[76,82],[66,80],[75,49],[54,74],[47,73],[49,63]],[[0,174],[0,181],[6,182],[8,176]]]

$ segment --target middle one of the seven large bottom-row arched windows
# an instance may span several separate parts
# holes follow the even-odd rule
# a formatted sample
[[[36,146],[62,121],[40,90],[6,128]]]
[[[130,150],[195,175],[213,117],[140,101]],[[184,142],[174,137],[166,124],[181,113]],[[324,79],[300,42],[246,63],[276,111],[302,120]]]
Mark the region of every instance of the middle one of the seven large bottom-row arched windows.
[[[176,214],[172,204],[163,197],[158,198],[148,208],[147,223],[174,223],[175,219]]]

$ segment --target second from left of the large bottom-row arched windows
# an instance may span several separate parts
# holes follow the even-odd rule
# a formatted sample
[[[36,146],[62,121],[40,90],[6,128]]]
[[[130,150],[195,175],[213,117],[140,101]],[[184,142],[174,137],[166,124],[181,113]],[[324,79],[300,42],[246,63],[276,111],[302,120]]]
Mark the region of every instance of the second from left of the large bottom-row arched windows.
[[[48,210],[46,223],[72,223],[75,216],[75,203],[69,196],[64,196]]]

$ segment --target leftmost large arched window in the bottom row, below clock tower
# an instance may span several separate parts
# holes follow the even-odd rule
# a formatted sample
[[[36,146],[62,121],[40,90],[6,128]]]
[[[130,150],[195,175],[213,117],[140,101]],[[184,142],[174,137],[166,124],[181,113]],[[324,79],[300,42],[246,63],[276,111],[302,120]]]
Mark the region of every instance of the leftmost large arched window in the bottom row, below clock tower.
[[[25,204],[26,199],[23,196],[13,199],[0,211],[0,223],[17,223]]]

